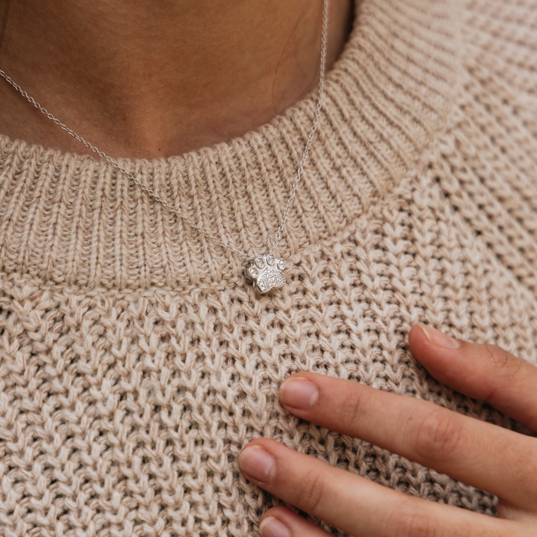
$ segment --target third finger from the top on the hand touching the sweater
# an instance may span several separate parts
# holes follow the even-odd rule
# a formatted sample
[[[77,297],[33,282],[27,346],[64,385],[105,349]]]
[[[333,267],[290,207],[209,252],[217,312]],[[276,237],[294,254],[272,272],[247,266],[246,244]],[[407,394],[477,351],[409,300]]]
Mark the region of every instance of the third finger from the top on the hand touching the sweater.
[[[259,487],[355,537],[532,535],[511,520],[408,496],[267,438],[250,442],[239,465]]]

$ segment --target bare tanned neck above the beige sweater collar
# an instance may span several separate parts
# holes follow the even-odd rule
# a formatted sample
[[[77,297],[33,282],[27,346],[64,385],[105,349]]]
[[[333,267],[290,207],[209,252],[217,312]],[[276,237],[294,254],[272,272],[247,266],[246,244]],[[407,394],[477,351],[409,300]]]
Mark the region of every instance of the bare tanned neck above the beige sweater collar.
[[[112,156],[170,156],[255,129],[317,83],[322,0],[12,0],[0,68]],[[328,67],[351,0],[332,0]],[[88,153],[0,79],[0,133]]]

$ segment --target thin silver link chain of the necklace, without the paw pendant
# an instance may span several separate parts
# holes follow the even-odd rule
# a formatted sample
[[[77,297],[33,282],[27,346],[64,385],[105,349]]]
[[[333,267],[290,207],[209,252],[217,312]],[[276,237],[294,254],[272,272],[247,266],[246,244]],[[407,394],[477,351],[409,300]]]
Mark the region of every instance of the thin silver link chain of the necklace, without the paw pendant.
[[[296,187],[298,186],[300,179],[302,177],[302,173],[304,172],[304,165],[306,165],[306,160],[308,158],[309,150],[311,147],[311,141],[313,140],[313,135],[315,131],[317,130],[319,114],[321,113],[323,96],[324,96],[324,71],[325,71],[325,66],[326,66],[326,43],[328,41],[329,10],[330,10],[330,0],[324,0],[323,25],[322,25],[322,31],[321,31],[321,74],[319,77],[317,108],[315,110],[313,124],[311,125],[311,129],[310,129],[309,136],[308,136],[308,141],[306,143],[306,149],[304,149],[304,153],[302,154],[302,159],[300,161],[299,169],[296,171],[293,187],[291,188],[291,193],[289,194],[289,199],[287,200],[287,206],[285,207],[284,216],[282,216],[280,225],[278,227],[278,231],[274,238],[274,242],[272,243],[272,248],[269,252],[272,254],[274,254],[276,246],[278,245],[278,241],[281,238],[281,232],[284,229],[284,225],[287,220],[287,214],[289,213],[289,208],[291,208],[291,204],[293,203],[293,199],[296,194]],[[178,209],[176,209],[173,205],[170,205],[166,200],[156,195],[153,192],[153,190],[151,190],[151,188],[149,188],[147,185],[144,185],[139,179],[136,179],[136,177],[134,177],[132,173],[128,172],[124,168],[124,166],[121,166],[118,162],[114,161],[114,159],[106,155],[104,151],[100,151],[97,147],[92,146],[91,143],[86,142],[82,136],[79,136],[78,134],[74,132],[74,130],[71,130],[69,127],[67,127],[67,125],[64,125],[59,119],[56,119],[54,115],[52,115],[50,112],[46,110],[46,108],[43,108],[33,97],[30,97],[30,95],[28,95],[26,91],[24,91],[16,82],[14,82],[12,78],[6,75],[2,69],[0,69],[0,75],[2,75],[6,79],[6,81],[8,81],[13,86],[13,88],[15,88],[19,93],[21,93],[21,95],[26,97],[26,99],[28,99],[28,101],[30,101],[30,103],[32,103],[40,112],[45,114],[47,118],[52,119],[52,121],[54,121],[56,125],[61,127],[63,130],[65,130],[65,132],[70,134],[76,140],[83,143],[84,146],[91,149],[93,153],[96,153],[100,157],[105,158],[108,162],[110,162],[110,164],[112,164],[114,168],[117,168],[120,172],[124,173],[129,179],[133,180],[134,183],[136,183],[137,185],[140,185],[142,190],[146,191],[153,199],[161,203],[164,207],[168,208],[169,211],[179,216],[180,219],[184,220],[187,224],[189,224],[196,231],[199,231],[199,233],[205,235],[207,238],[220,244],[222,248],[229,250],[230,252],[234,253],[235,255],[239,257],[242,257],[243,259],[245,259],[246,261],[250,263],[253,262],[253,258],[246,256],[244,253],[238,250],[235,250],[235,248],[232,248],[229,244],[226,244],[225,242],[221,241],[218,237],[215,237],[214,235],[211,235],[205,229],[200,228],[197,223],[193,222],[192,220],[188,220],[188,218],[184,214],[180,213]]]

